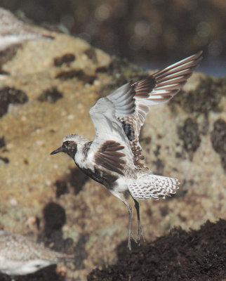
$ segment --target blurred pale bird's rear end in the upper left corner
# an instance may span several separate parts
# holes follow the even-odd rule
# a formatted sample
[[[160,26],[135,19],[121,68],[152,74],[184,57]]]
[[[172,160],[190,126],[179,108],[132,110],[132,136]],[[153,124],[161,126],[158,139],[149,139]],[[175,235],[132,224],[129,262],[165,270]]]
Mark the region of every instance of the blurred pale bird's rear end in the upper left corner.
[[[23,41],[41,38],[53,39],[51,35],[25,24],[10,11],[0,8],[0,51]]]

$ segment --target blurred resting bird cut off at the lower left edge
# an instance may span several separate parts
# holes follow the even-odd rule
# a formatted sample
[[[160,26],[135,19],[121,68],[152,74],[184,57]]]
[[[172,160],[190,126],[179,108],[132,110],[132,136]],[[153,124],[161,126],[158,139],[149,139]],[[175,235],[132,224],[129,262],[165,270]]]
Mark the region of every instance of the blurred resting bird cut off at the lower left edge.
[[[1,273],[27,275],[51,264],[72,259],[73,255],[52,251],[25,236],[0,230]]]

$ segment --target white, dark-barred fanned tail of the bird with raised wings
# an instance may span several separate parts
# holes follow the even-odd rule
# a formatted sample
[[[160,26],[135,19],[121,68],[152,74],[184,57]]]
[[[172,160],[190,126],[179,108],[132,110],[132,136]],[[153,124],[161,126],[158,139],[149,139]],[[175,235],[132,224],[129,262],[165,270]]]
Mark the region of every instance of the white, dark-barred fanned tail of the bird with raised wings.
[[[177,178],[139,173],[138,179],[128,186],[128,190],[134,199],[151,200],[154,198],[159,200],[159,198],[174,194],[175,190],[179,188],[179,184]]]

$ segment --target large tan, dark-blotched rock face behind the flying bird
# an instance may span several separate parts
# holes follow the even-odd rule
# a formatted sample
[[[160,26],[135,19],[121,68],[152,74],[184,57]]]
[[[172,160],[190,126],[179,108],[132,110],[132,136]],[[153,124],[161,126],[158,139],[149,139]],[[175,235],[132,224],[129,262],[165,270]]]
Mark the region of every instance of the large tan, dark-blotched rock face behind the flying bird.
[[[75,251],[64,278],[86,280],[93,268],[117,261],[117,248],[127,239],[127,210],[67,155],[50,152],[68,133],[92,140],[89,108],[147,73],[81,39],[54,36],[23,44],[2,66],[11,75],[0,80],[0,94],[14,89],[27,100],[8,103],[0,118],[0,226]],[[181,183],[167,200],[140,202],[148,242],[173,226],[197,229],[225,218],[225,84],[196,73],[184,91],[147,116],[140,137],[147,165]]]

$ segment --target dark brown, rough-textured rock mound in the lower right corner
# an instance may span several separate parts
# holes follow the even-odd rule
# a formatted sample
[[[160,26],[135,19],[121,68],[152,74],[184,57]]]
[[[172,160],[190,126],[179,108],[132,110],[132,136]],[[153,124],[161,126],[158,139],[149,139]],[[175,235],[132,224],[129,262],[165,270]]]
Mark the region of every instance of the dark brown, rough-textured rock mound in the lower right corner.
[[[186,233],[173,228],[129,256],[102,270],[95,269],[88,281],[215,281],[226,277],[226,221],[207,221],[200,230]],[[121,251],[124,245],[121,245]]]

